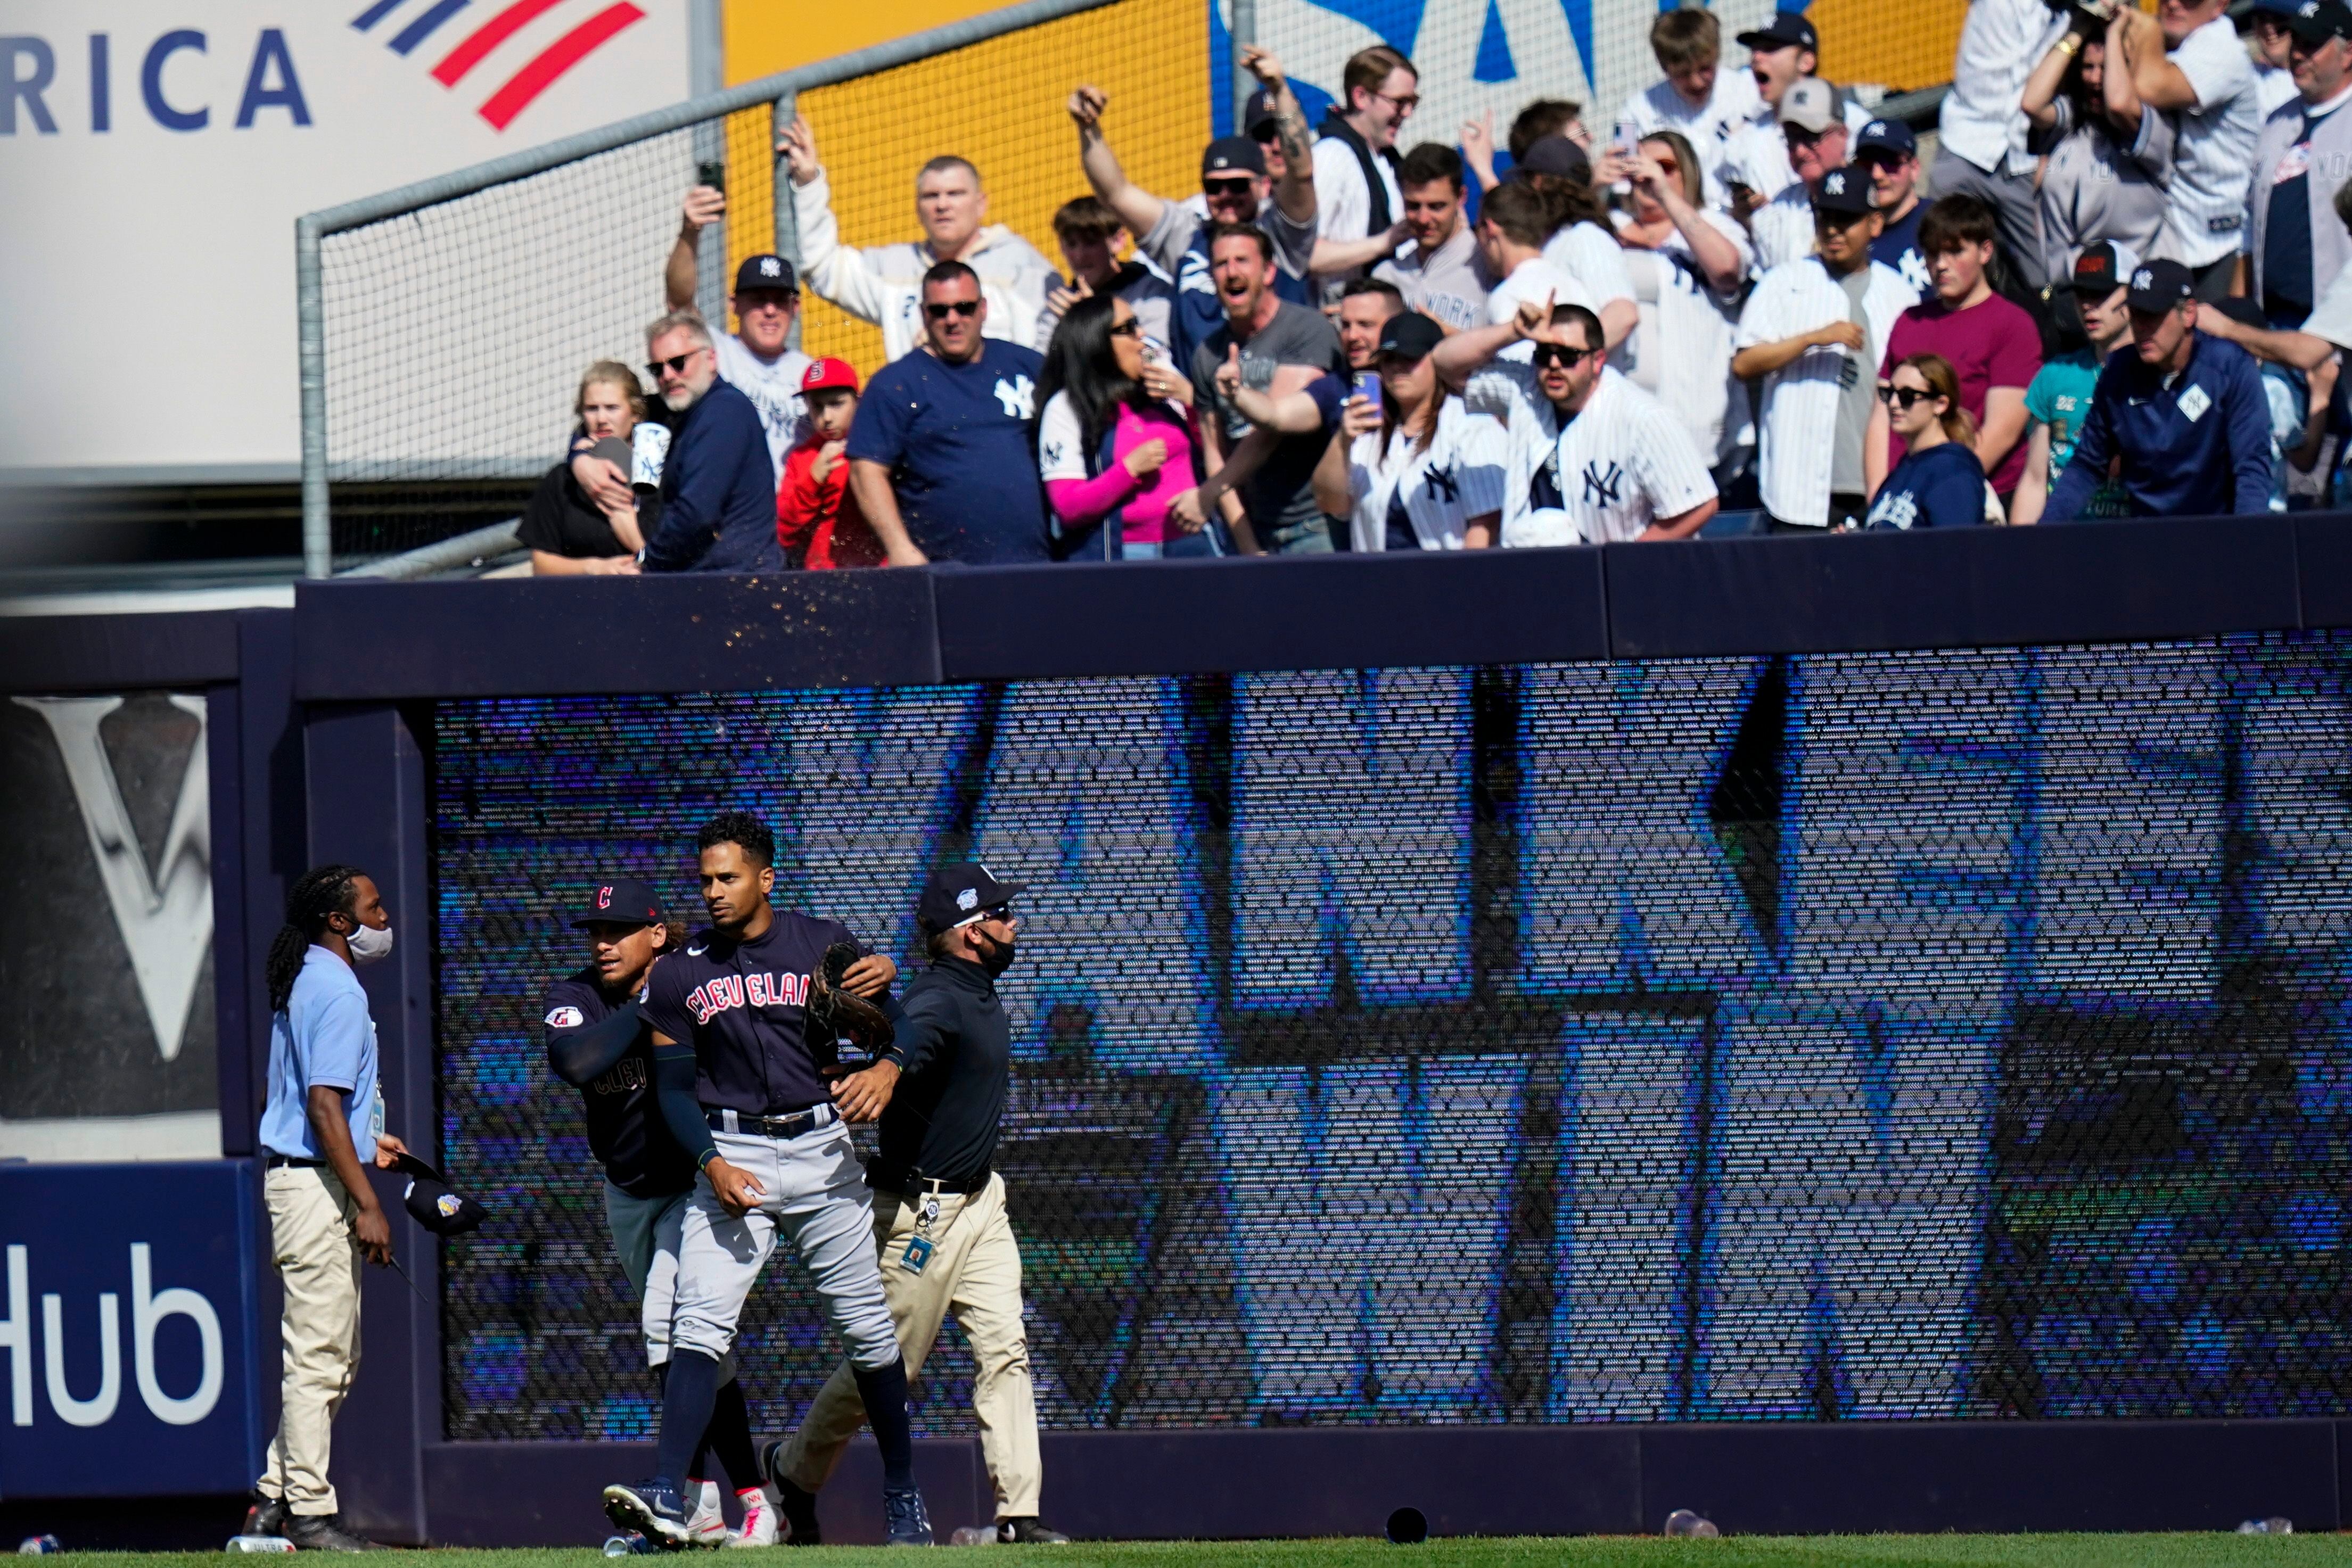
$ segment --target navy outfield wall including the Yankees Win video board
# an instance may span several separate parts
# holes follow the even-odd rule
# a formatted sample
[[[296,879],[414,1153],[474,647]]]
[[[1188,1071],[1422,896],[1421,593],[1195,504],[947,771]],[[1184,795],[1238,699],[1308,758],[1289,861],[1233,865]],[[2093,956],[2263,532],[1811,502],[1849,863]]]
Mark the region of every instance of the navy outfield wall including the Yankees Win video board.
[[[369,1279],[339,1481],[388,1537],[583,1540],[644,1465],[534,1018],[569,886],[691,907],[717,804],[901,961],[929,863],[1040,884],[1002,1166],[1065,1528],[2333,1528],[2347,543],[325,583],[0,654],[209,693],[223,1154],[285,872],[386,889],[393,1124],[494,1213],[400,1222],[435,1305]],[[127,1286],[75,1267],[96,1324]],[[776,1272],[764,1429],[811,1321]],[[950,1340],[917,1406],[946,1526],[985,1509],[964,1375]],[[78,1441],[33,1403],[19,1441]]]

